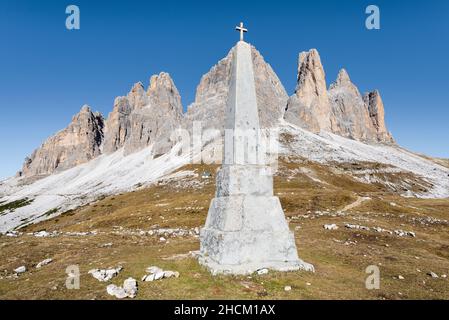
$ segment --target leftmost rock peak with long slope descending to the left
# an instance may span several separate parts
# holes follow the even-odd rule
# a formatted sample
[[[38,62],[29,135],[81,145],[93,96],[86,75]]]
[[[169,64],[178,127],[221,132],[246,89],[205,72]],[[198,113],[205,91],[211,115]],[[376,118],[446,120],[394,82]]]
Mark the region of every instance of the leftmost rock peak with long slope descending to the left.
[[[21,175],[48,175],[88,162],[101,153],[103,116],[85,105],[67,128],[48,138],[25,159]]]

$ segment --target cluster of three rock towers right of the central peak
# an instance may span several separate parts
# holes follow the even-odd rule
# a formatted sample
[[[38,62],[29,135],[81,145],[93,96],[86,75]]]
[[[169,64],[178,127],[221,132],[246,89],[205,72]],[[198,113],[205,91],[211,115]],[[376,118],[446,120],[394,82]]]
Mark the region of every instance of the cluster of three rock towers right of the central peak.
[[[365,142],[394,142],[385,126],[379,93],[362,97],[345,69],[327,89],[324,68],[315,49],[299,55],[298,82],[284,118],[315,133],[328,131]]]

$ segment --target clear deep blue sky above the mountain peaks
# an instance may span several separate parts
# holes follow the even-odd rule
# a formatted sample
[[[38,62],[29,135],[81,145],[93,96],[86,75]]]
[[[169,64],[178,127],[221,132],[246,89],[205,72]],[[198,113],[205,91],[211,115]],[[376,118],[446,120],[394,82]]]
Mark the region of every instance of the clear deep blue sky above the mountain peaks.
[[[81,30],[65,28],[65,8]],[[365,28],[376,4],[381,30]],[[184,107],[202,74],[238,40],[272,65],[289,94],[297,55],[317,48],[328,84],[345,67],[379,89],[400,145],[449,157],[449,1],[0,1],[0,177],[64,128],[85,103],[105,116],[114,97],[169,72]]]

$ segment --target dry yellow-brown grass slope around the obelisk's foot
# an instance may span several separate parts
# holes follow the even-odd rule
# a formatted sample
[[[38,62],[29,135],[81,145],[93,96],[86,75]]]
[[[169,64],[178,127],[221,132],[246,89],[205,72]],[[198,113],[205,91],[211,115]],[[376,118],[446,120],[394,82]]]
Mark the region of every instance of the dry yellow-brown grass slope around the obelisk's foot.
[[[215,173],[216,168],[198,165],[181,170],[201,175]],[[108,283],[98,282],[88,270],[122,265],[124,270],[109,282],[121,284],[130,276],[140,280],[146,267],[157,265],[181,276],[139,281],[137,299],[449,299],[449,280],[427,275],[430,271],[449,274],[449,225],[443,221],[448,219],[449,200],[402,198],[382,185],[360,183],[345,175],[344,167],[339,169],[342,174],[299,159],[281,162],[275,177],[275,192],[295,230],[299,255],[315,265],[316,273],[212,277],[195,259],[179,258],[198,250],[198,238],[168,237],[168,242],[160,242],[159,236],[124,232],[202,226],[214,195],[214,178],[190,177],[104,198],[29,226],[17,238],[0,237],[0,298],[111,299],[105,290]],[[345,215],[332,216],[361,196],[371,200]],[[339,229],[324,230],[329,223]],[[413,231],[416,238],[347,229],[345,223]],[[39,230],[96,230],[97,235],[36,238],[26,234]],[[103,247],[105,243],[113,245]],[[45,258],[54,261],[35,269]],[[65,268],[73,264],[82,273],[79,290],[65,288]],[[28,271],[10,278],[21,265]],[[380,268],[380,290],[365,288],[369,265]],[[284,291],[287,285],[292,287],[289,292]]]

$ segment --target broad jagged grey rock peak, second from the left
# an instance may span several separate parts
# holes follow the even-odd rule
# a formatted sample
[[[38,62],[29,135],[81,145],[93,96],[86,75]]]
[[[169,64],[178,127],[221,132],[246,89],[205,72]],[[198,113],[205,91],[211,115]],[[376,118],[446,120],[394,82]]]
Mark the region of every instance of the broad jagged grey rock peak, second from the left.
[[[153,145],[154,155],[170,149],[170,135],[181,125],[182,104],[168,73],[154,75],[148,90],[142,83],[118,97],[105,126],[104,152],[124,148],[125,154]]]

